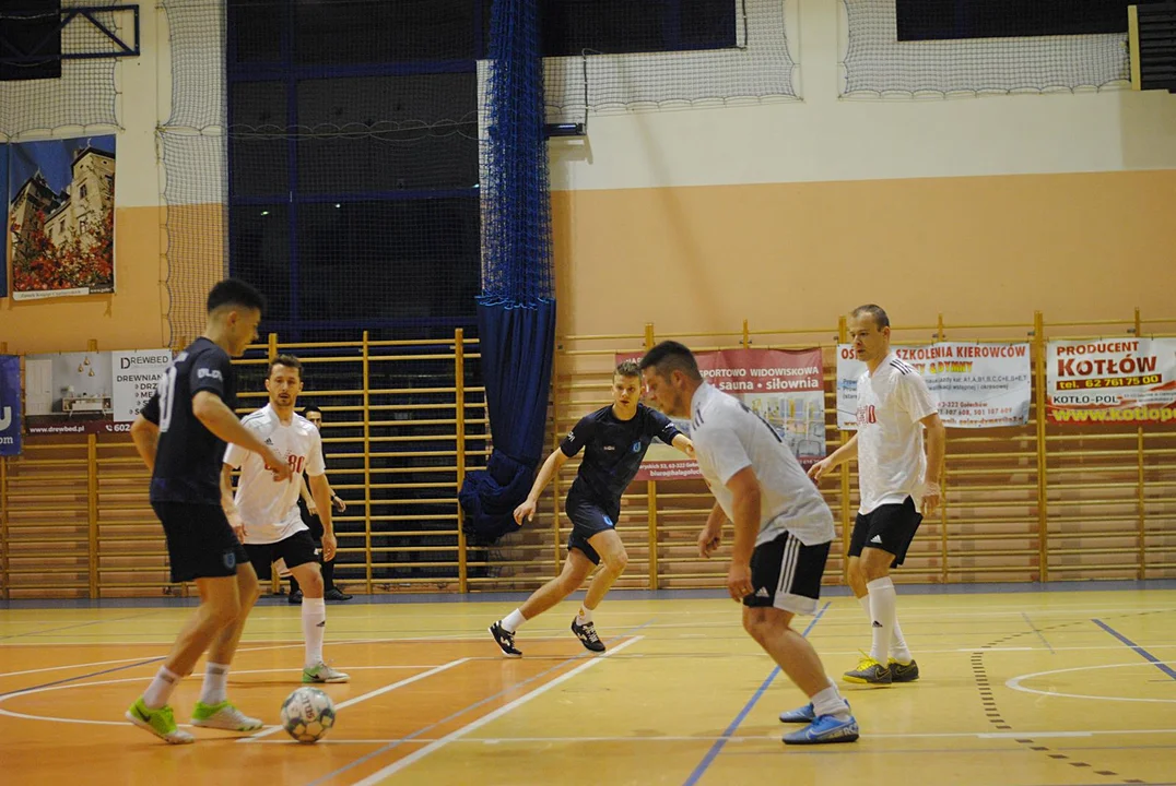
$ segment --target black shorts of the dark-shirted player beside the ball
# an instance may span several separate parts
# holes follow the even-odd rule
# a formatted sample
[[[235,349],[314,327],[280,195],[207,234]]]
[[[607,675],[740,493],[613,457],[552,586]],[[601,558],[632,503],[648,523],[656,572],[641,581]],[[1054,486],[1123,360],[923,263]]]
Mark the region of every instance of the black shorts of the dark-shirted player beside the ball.
[[[238,566],[249,562],[220,505],[153,502],[151,506],[167,537],[173,583],[236,576]]]

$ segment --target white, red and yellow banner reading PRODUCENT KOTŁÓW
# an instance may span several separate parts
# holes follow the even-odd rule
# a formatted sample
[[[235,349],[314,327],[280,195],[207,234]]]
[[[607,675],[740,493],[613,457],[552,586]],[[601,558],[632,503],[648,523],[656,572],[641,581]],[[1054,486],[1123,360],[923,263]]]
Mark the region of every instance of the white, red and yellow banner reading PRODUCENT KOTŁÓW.
[[[1051,341],[1050,423],[1176,423],[1176,338]]]

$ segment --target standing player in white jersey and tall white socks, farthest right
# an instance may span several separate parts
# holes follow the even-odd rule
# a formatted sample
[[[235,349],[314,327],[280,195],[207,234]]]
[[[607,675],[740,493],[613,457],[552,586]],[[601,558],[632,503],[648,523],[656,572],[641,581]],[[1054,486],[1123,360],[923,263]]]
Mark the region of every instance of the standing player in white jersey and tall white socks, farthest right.
[[[886,311],[877,305],[854,309],[849,336],[867,369],[857,381],[857,434],[809,470],[820,481],[838,464],[857,458],[862,499],[849,539],[846,577],[870,618],[874,640],[869,654],[863,653],[843,679],[870,685],[911,683],[918,679],[918,664],[898,625],[890,569],[903,563],[923,516],[940,504],[943,423],[927,383],[890,351]]]

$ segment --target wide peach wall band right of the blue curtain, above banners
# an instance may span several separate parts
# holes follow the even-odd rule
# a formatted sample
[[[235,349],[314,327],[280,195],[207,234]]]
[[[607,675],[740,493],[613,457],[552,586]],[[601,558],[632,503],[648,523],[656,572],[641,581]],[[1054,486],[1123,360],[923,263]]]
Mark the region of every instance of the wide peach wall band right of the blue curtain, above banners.
[[[553,194],[561,335],[1174,317],[1176,170]]]

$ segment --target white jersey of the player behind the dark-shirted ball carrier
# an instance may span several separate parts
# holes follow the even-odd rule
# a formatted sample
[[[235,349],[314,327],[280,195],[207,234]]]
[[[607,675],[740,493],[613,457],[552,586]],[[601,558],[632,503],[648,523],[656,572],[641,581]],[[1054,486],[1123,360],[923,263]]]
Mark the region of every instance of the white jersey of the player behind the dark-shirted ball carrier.
[[[288,481],[274,481],[274,473],[266,469],[258,454],[240,445],[229,445],[225,451],[225,463],[234,469],[241,468],[234,502],[245,523],[245,542],[285,540],[307,529],[298,509],[300,478],[303,471],[315,476],[326,472],[322,438],[319,430],[301,415],[295,414],[289,424],[283,424],[269,404],[246,415],[241,425],[285,459],[292,473]]]

